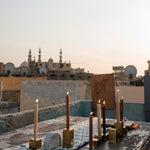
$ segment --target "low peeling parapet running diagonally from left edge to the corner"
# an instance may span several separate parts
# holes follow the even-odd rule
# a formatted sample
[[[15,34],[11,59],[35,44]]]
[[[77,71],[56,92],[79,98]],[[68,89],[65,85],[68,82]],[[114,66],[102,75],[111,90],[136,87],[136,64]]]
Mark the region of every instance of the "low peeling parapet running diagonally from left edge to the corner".
[[[70,115],[83,116],[82,103],[80,101],[70,103]],[[48,119],[57,118],[66,115],[66,104],[58,104],[51,107],[45,107],[39,109],[39,122]],[[4,130],[0,130],[0,133],[12,131],[30,124],[33,124],[34,111],[23,111],[13,113],[10,115],[0,115],[0,128],[1,125],[6,126]],[[1,124],[2,123],[2,124]]]

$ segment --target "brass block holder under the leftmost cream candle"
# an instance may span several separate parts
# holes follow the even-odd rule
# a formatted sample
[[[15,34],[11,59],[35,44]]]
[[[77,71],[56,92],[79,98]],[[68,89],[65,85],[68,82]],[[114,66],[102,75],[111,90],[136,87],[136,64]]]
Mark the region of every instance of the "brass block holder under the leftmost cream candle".
[[[37,150],[37,149],[40,149],[41,146],[42,146],[42,139],[37,139],[37,140],[30,139],[29,140],[30,149]]]

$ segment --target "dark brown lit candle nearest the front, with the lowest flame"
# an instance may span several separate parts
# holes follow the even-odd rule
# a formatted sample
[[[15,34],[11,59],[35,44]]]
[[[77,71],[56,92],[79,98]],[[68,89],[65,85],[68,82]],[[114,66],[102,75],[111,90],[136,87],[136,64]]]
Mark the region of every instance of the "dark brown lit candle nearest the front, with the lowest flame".
[[[93,146],[93,112],[89,116],[89,147]]]

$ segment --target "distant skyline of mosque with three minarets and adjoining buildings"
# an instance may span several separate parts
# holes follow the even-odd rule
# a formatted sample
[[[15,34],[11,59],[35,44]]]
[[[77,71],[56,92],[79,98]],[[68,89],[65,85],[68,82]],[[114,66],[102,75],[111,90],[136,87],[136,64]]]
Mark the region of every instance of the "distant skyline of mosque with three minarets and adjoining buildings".
[[[29,49],[28,60],[24,61],[17,68],[12,62],[0,63],[0,76],[44,76],[47,79],[90,79],[91,74],[84,69],[73,69],[71,63],[62,61],[62,49],[60,49],[59,62],[50,58],[47,62],[41,60],[41,48],[39,48],[38,60],[32,59],[32,51]]]

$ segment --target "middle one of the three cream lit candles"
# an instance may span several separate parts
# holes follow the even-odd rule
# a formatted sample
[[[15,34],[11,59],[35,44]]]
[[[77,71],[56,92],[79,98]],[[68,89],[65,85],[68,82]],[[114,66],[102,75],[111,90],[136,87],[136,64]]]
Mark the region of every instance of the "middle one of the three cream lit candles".
[[[97,104],[97,128],[98,128],[98,136],[101,136],[101,99]]]

